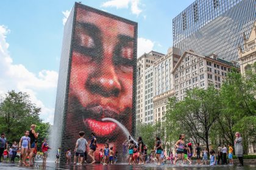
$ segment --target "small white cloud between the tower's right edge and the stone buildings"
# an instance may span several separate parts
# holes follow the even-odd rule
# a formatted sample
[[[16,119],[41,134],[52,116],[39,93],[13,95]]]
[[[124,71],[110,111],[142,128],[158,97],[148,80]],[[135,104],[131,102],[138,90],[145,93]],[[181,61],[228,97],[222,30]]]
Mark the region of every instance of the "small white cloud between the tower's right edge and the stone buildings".
[[[137,57],[140,57],[144,53],[150,52],[155,45],[155,42],[146,38],[138,38],[138,52]]]

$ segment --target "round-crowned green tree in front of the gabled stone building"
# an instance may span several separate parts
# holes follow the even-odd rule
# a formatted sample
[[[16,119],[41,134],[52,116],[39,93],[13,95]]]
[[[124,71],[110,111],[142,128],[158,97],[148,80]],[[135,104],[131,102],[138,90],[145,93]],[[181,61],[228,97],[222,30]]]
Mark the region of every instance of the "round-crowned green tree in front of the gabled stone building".
[[[206,90],[195,88],[187,91],[184,100],[169,101],[166,120],[174,120],[177,128],[182,128],[183,134],[189,134],[194,141],[204,141],[209,151],[210,130],[219,117],[220,106],[218,90],[213,86]]]

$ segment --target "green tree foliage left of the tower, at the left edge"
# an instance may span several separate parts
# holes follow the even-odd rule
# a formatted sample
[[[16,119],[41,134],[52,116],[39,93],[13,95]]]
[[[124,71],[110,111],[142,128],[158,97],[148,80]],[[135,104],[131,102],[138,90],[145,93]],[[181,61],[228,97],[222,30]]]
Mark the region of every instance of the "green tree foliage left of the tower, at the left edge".
[[[37,124],[40,133],[38,143],[48,137],[50,124],[43,123],[39,118],[40,107],[30,101],[29,95],[14,90],[7,92],[0,102],[0,131],[5,132],[9,143],[20,141],[24,132],[31,124]],[[39,146],[38,144],[38,146]]]

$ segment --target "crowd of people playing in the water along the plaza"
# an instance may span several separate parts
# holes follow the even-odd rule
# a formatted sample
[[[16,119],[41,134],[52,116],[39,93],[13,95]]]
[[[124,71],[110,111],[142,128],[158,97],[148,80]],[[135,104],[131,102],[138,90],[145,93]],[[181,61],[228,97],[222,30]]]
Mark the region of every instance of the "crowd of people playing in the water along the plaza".
[[[10,162],[14,163],[17,151],[20,151],[20,163],[25,165],[32,165],[34,163],[34,158],[37,155],[37,138],[39,133],[35,132],[35,124],[30,126],[29,131],[24,132],[24,136],[21,137],[20,143],[13,141],[12,145],[7,147],[7,140],[5,134],[2,133],[0,137],[0,161],[3,157],[6,159],[10,158]],[[91,163],[96,163],[96,149],[99,149],[98,160],[99,163],[103,165],[115,164],[118,161],[118,151],[114,151],[113,146],[109,146],[108,138],[105,141],[104,148],[98,148],[96,134],[91,132],[91,141],[88,144],[88,141],[84,138],[85,132],[79,132],[79,138],[76,141],[74,147],[74,165],[82,165],[87,163],[87,151],[88,156],[91,158]],[[235,154],[240,161],[240,166],[243,166],[243,144],[240,133],[236,132],[235,134]],[[195,165],[227,165],[227,157],[229,158],[229,164],[233,164],[233,147],[232,144],[227,146],[224,144],[221,146],[219,144],[217,154],[214,150],[211,150],[209,153],[207,148],[201,148],[200,144],[197,143],[193,149],[193,144],[185,143],[185,135],[181,134],[179,140],[177,140],[174,146],[174,154],[170,151],[167,155],[163,149],[162,141],[159,137],[155,137],[154,148],[148,151],[146,144],[143,143],[141,137],[138,137],[137,141],[134,141],[129,136],[127,140],[123,142],[123,153],[121,155],[121,161],[127,162],[129,165],[141,165],[146,163],[157,163],[157,165],[163,165],[166,160],[169,160],[171,164],[184,165],[192,164],[192,157],[196,157]],[[48,157],[49,144],[46,139],[44,139],[41,146],[41,151],[43,152],[43,163],[46,162]],[[148,154],[150,152],[150,154]],[[195,153],[194,153],[195,152]],[[60,158],[60,148],[57,149],[55,163],[59,163]],[[210,162],[208,163],[208,155],[210,155]],[[218,157],[217,157],[218,155]],[[28,159],[28,161],[27,161]],[[66,151],[66,163],[71,163],[72,155],[71,148],[68,148]]]

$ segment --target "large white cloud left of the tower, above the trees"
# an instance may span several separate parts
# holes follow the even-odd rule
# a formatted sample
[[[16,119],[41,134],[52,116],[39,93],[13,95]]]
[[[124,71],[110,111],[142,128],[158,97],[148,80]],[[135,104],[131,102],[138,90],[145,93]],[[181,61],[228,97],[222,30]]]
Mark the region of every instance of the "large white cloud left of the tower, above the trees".
[[[8,90],[27,92],[30,99],[41,107],[40,118],[53,124],[54,108],[49,108],[38,99],[38,93],[56,89],[58,73],[51,70],[41,70],[35,74],[26,69],[22,64],[13,64],[9,54],[9,44],[6,35],[10,32],[7,27],[0,25],[0,95]]]

